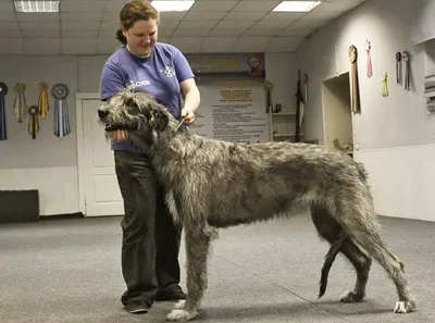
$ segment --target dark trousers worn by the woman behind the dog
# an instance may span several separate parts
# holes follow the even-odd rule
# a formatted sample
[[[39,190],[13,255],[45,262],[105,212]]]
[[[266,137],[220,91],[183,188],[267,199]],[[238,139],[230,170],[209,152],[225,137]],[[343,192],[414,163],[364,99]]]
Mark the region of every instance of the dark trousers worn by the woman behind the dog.
[[[166,293],[179,284],[182,227],[167,212],[164,191],[146,154],[115,150],[114,161],[125,212],[121,263],[127,289],[121,301],[151,306],[158,290]]]

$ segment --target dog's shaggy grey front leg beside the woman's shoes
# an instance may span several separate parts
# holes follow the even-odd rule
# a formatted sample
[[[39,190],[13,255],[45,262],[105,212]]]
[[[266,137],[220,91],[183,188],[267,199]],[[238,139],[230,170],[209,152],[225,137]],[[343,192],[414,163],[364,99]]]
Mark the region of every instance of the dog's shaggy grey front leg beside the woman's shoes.
[[[198,315],[198,308],[207,288],[207,260],[211,234],[203,228],[186,228],[187,299],[175,306],[167,321],[189,321]]]

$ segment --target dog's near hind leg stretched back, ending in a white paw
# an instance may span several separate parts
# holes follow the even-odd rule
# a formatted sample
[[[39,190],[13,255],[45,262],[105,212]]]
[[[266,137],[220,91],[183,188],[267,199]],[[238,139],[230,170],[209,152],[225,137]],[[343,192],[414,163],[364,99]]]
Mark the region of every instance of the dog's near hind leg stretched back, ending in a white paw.
[[[348,188],[347,188],[348,189]],[[415,310],[415,301],[412,299],[408,279],[405,274],[403,263],[390,252],[378,234],[375,223],[373,203],[370,198],[360,194],[343,196],[335,202],[337,222],[358,245],[371,254],[387,272],[396,285],[399,300],[396,302],[395,313],[408,313]],[[363,191],[362,191],[363,192]]]

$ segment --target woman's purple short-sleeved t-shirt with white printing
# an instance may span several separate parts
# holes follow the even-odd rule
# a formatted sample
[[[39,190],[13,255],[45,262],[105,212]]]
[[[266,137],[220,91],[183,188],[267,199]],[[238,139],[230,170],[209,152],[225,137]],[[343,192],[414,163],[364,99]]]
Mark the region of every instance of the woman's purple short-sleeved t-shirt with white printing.
[[[172,45],[157,42],[148,58],[135,57],[123,46],[103,66],[100,97],[105,101],[125,88],[147,92],[179,120],[183,108],[179,83],[195,75],[189,63]],[[112,141],[112,149],[137,151],[127,141]]]

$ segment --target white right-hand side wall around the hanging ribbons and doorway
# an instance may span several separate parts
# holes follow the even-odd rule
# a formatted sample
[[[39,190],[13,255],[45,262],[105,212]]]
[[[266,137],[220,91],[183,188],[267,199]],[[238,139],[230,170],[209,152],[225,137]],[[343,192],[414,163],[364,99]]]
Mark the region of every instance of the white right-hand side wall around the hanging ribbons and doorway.
[[[432,7],[434,16],[435,7]],[[352,115],[355,158],[363,161],[373,185],[376,212],[387,216],[435,221],[430,196],[435,191],[435,115],[424,105],[425,46],[414,46],[419,16],[409,0],[371,0],[330,23],[302,42],[298,65],[310,76],[306,107],[307,138],[324,141],[321,85],[350,71],[348,49],[359,50],[361,114]],[[365,40],[372,42],[373,77],[366,77]],[[411,90],[396,84],[397,51],[411,53]],[[387,71],[389,97],[382,97]],[[402,70],[405,72],[405,69]],[[423,160],[421,160],[423,159]]]

